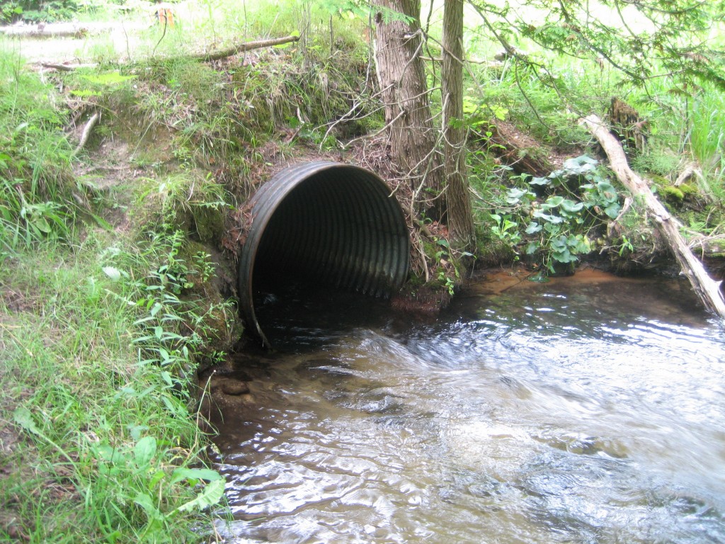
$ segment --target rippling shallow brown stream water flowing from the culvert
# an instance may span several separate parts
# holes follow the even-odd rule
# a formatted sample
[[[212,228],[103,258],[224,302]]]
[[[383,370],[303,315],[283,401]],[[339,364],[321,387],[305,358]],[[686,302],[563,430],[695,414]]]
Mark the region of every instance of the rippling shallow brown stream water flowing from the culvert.
[[[687,291],[500,274],[424,323],[341,294],[265,295],[277,351],[231,372],[249,394],[215,400],[233,518],[219,532],[725,542],[725,336]]]

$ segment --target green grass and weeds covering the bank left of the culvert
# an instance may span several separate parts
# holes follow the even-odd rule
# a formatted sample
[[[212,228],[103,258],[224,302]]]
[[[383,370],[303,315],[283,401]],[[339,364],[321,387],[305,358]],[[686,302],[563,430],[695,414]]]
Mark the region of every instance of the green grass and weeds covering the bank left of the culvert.
[[[0,541],[207,540],[224,482],[199,468],[194,368],[235,318],[167,220],[201,223],[224,194],[186,173],[154,228],[84,223],[103,210],[78,200],[111,202],[73,176],[62,97],[7,51],[0,86]]]

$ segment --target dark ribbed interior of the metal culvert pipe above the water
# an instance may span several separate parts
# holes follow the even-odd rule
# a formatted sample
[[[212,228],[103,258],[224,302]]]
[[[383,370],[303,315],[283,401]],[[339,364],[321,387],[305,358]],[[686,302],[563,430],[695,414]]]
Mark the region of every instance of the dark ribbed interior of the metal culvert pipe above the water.
[[[257,248],[255,289],[293,274],[314,284],[387,297],[407,268],[407,232],[381,186],[355,170],[325,170],[279,204]]]

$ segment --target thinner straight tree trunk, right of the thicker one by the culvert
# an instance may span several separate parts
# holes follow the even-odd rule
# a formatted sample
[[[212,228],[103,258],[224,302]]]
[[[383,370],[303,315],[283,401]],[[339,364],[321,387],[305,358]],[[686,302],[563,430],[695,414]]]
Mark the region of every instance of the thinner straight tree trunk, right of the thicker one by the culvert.
[[[463,0],[445,0],[443,15],[444,154],[447,188],[445,204],[452,242],[471,251],[476,245],[471,198],[465,173],[463,128]]]

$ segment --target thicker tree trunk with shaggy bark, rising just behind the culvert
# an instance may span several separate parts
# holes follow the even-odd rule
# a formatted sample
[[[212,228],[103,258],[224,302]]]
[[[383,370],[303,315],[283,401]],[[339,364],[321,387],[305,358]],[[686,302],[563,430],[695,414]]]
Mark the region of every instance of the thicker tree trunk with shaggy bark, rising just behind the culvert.
[[[414,195],[423,187],[441,194],[443,167],[421,58],[421,1],[373,0],[373,4],[381,8],[375,15],[375,58],[392,162],[410,178]],[[434,202],[424,207],[443,209]]]

